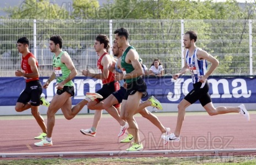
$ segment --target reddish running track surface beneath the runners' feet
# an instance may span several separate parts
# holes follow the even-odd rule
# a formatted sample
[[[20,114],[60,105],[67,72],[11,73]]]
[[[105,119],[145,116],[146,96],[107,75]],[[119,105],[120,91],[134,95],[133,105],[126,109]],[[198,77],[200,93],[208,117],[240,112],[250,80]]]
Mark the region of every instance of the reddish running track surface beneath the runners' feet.
[[[154,113],[164,127],[175,129],[177,114]],[[174,114],[174,115],[173,115]],[[46,117],[45,122],[47,122]],[[149,120],[135,117],[140,129],[140,138],[144,150],[218,150],[218,149],[255,149],[256,114],[250,114],[250,122],[240,114],[188,115],[185,117],[180,142],[163,145],[161,131]],[[0,118],[0,153],[36,153],[36,152],[90,152],[125,151],[130,145],[119,141],[120,126],[109,115],[99,123],[95,137],[80,133],[80,129],[90,128],[93,115],[78,115],[72,120],[56,118],[52,135],[53,146],[34,146],[34,137],[41,131],[35,119],[14,117]],[[170,155],[169,155],[170,156]],[[92,157],[92,156],[90,156]],[[130,157],[130,156],[129,156]]]

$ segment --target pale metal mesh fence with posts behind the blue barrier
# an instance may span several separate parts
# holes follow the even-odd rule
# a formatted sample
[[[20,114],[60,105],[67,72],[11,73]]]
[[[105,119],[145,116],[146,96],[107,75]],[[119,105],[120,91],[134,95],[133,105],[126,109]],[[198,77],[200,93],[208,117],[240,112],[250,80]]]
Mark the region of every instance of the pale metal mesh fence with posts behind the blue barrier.
[[[256,74],[256,20],[0,20],[0,76],[14,76],[20,69],[21,54],[16,43],[26,36],[30,51],[38,59],[41,76],[52,72],[52,53],[48,43],[52,35],[63,38],[62,50],[70,53],[77,70],[97,70],[94,39],[108,35],[112,45],[114,30],[125,27],[130,44],[150,68],[159,59],[166,75],[177,73],[184,65],[183,35],[198,32],[196,45],[220,61],[214,75]],[[111,53],[111,52],[110,52]]]

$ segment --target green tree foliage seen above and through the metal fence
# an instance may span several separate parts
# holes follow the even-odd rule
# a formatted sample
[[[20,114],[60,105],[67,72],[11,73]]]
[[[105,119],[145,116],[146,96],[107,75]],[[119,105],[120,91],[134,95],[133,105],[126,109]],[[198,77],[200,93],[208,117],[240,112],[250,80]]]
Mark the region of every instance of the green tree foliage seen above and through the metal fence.
[[[73,51],[76,56],[83,54],[84,49],[92,47],[90,43],[93,43],[94,37],[100,32],[109,34],[108,20],[113,19],[113,30],[119,27],[130,30],[131,44],[141,55],[143,63],[150,67],[153,59],[159,58],[164,68],[168,68],[166,70],[168,74],[178,72],[173,68],[181,68],[180,19],[185,19],[184,30],[196,30],[200,34],[197,46],[220,61],[230,62],[218,67],[215,73],[244,73],[249,65],[248,19],[256,18],[255,3],[242,4],[235,0],[225,2],[114,0],[113,3],[108,2],[100,7],[97,0],[73,0],[72,7],[73,10],[68,11],[65,6],[60,7],[49,0],[25,0],[17,7],[3,10],[9,13],[8,18],[11,19],[38,19],[38,41],[47,41],[51,35],[61,34],[63,40],[68,41],[65,46],[76,50]],[[115,21],[118,19],[124,21],[122,23]],[[139,19],[151,19],[151,21]],[[168,21],[169,19],[172,21]],[[218,21],[214,21],[215,19]],[[242,21],[226,21],[238,19]],[[45,24],[47,20],[51,23]],[[54,20],[58,21],[55,23]],[[198,24],[199,20],[200,24]],[[229,28],[231,24],[232,27],[239,28]],[[26,34],[31,35],[30,39],[33,37],[33,24],[29,22],[4,23],[0,26],[1,33],[6,34],[0,38],[1,54],[4,50],[16,49],[15,42],[9,42],[12,41],[11,38]],[[15,27],[29,28],[22,31]],[[230,42],[234,40],[234,35],[239,41],[236,44]],[[44,46],[45,43],[39,44]],[[12,54],[18,56],[17,53]],[[237,64],[236,61],[242,62]],[[237,65],[239,66],[237,69],[230,69],[236,68]]]

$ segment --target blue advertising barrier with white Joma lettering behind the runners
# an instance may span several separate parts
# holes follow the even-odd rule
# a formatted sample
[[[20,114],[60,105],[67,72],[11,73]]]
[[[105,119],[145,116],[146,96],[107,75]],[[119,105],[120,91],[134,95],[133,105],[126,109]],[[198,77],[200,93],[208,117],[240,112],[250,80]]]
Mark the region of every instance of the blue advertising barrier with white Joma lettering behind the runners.
[[[48,77],[41,77],[42,84]],[[179,103],[188,92],[193,89],[190,76],[180,76],[173,80],[171,76],[162,78],[145,78],[148,96],[154,95],[162,103]],[[210,95],[214,103],[255,103],[256,78],[247,76],[211,76],[209,79]],[[73,79],[75,95],[72,97],[72,105],[81,101],[86,92],[95,92],[102,86],[101,80],[77,76]],[[43,90],[48,101],[56,93],[56,81]],[[15,106],[20,93],[25,88],[25,80],[18,77],[0,78],[0,106]],[[143,100],[147,99],[143,98]]]

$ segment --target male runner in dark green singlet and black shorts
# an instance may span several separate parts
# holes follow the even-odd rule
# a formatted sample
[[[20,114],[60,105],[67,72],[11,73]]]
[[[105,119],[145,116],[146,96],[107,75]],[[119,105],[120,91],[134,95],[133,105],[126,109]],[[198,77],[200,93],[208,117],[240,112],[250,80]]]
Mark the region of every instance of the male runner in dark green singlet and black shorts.
[[[140,136],[138,135],[138,125],[134,119],[134,114],[138,109],[141,97],[147,95],[147,86],[141,78],[142,67],[138,59],[138,53],[128,42],[129,32],[125,28],[115,30],[115,40],[118,46],[124,50],[121,59],[122,73],[127,83],[127,91],[122,100],[120,116],[127,120],[129,133],[134,137],[132,146],[126,151],[139,151],[143,149]]]

